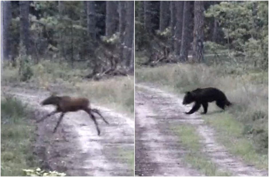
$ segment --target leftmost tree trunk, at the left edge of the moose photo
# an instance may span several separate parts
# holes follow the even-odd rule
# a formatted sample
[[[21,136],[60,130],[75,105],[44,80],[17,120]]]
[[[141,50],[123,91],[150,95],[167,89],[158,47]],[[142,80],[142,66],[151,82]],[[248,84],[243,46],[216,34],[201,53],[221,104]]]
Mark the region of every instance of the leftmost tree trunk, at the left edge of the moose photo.
[[[9,59],[10,53],[10,24],[11,24],[11,1],[3,1],[3,57]]]

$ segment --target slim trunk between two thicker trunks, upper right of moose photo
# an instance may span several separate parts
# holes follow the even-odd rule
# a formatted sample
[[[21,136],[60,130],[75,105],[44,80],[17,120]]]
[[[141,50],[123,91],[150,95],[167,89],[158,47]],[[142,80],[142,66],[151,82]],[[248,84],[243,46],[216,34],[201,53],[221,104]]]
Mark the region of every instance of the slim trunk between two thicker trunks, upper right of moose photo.
[[[119,1],[119,33],[120,33],[120,62],[123,61],[123,49],[124,49],[124,30],[125,30],[125,1]]]

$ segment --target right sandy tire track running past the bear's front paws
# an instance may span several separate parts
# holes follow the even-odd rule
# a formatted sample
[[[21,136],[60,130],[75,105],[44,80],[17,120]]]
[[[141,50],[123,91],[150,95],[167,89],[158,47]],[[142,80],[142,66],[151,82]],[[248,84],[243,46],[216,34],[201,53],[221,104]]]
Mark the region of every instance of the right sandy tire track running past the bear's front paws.
[[[150,84],[137,84],[136,87],[145,90],[143,91],[145,96],[151,101],[152,106],[159,110],[159,117],[165,117],[165,121],[171,124],[187,123],[197,126],[197,134],[202,138],[203,151],[212,162],[217,164],[220,170],[229,171],[234,176],[268,176],[268,171],[258,170],[230,154],[222,144],[215,140],[213,128],[205,125],[197,113],[184,114],[185,111],[190,110],[191,106],[183,106],[181,98],[156,89]],[[163,119],[158,121],[163,121]]]

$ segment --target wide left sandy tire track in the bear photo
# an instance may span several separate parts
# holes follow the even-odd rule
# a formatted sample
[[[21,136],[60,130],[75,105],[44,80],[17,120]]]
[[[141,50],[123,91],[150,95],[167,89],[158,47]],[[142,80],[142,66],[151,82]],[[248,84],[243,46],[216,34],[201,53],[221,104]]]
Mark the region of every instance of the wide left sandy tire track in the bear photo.
[[[143,92],[135,93],[135,161],[139,176],[200,176],[182,162],[178,138],[166,122],[159,122]]]

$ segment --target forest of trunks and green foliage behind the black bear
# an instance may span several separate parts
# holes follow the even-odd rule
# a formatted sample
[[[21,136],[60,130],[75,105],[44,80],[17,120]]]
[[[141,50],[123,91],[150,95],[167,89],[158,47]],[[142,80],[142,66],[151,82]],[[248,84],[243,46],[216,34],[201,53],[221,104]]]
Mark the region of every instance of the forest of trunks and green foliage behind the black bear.
[[[145,65],[205,63],[204,54],[227,54],[268,68],[267,1],[135,3],[135,47],[147,55]]]

